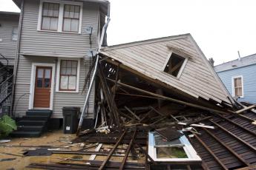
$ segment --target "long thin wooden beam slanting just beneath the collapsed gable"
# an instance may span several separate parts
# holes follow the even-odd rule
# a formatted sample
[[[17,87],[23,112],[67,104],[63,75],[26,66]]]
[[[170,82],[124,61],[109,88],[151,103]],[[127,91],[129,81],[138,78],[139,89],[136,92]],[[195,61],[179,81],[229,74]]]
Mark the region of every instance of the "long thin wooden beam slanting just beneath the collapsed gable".
[[[115,82],[113,81],[112,79],[110,78],[107,78],[108,81],[111,81],[111,82]],[[194,103],[188,103],[186,101],[179,101],[177,99],[174,99],[174,98],[168,98],[166,96],[163,96],[163,95],[157,95],[156,93],[154,92],[148,92],[148,91],[145,91],[143,89],[139,89],[135,86],[130,86],[128,84],[122,84],[120,82],[117,82],[117,84],[119,84],[120,86],[125,86],[129,89],[134,89],[136,90],[137,92],[142,92],[142,93],[145,93],[145,94],[148,94],[148,95],[152,95],[154,97],[157,97],[157,98],[163,98],[164,100],[166,101],[171,101],[171,102],[174,102],[174,103],[180,103],[180,104],[184,104],[186,106],[191,106],[191,107],[194,107],[194,108],[197,108],[197,109],[203,109],[203,110],[207,110],[209,112],[216,112],[216,113],[222,113],[222,114],[226,114],[227,112],[223,112],[223,111],[220,111],[220,110],[217,110],[217,109],[211,109],[211,108],[208,108],[208,107],[205,107],[205,106],[200,106],[200,105],[197,105],[197,104],[194,104]]]

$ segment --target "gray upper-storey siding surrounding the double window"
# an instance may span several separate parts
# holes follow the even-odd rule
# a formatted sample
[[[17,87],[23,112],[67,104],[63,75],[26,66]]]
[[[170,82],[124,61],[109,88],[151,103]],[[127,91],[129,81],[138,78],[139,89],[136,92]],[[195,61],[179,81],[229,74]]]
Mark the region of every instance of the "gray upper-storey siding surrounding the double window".
[[[92,47],[96,48],[98,32],[97,4],[84,3],[82,10],[82,33],[53,33],[38,31],[39,0],[24,0],[24,18],[20,53],[57,57],[82,58],[90,49],[89,35],[85,27],[93,27]]]

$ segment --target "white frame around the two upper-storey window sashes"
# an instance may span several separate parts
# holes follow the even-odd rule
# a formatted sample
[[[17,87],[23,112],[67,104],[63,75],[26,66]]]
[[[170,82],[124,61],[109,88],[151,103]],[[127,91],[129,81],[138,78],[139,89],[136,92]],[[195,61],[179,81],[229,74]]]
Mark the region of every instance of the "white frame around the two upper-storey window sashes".
[[[49,2],[49,3],[57,3],[59,4],[59,19],[58,19],[58,27],[57,30],[42,30],[42,4],[44,2]],[[71,5],[79,5],[80,6],[80,16],[79,16],[79,28],[78,28],[78,33],[75,32],[67,32],[67,31],[62,31],[62,26],[63,26],[63,16],[64,16],[64,5],[65,4],[71,4]],[[39,6],[39,17],[38,17],[38,22],[37,22],[37,30],[38,31],[44,31],[44,32],[53,32],[53,33],[74,33],[74,34],[81,34],[81,27],[82,27],[82,8],[83,8],[83,3],[82,2],[77,2],[77,1],[60,1],[60,0],[41,0],[40,1],[40,6]]]

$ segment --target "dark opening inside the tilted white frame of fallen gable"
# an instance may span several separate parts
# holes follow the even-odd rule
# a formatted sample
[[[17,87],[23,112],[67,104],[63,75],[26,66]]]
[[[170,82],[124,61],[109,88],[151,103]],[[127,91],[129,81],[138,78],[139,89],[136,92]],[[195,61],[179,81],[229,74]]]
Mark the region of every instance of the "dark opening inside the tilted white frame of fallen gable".
[[[183,58],[182,56],[172,52],[171,57],[169,58],[165,66],[164,72],[167,72],[170,75],[178,77],[180,69],[183,67],[185,61],[186,58]]]

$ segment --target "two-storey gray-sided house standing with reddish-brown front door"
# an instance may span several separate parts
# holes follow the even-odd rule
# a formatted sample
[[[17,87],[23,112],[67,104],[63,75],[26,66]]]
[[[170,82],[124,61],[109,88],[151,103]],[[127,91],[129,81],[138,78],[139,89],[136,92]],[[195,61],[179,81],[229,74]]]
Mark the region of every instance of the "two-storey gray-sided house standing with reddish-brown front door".
[[[30,120],[48,112],[51,119],[62,120],[64,106],[81,111],[88,88],[85,78],[92,63],[90,54],[99,47],[109,2],[13,1],[21,9],[13,115]],[[92,124],[94,87],[86,112],[84,122]],[[20,124],[26,126],[26,122]]]

